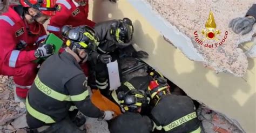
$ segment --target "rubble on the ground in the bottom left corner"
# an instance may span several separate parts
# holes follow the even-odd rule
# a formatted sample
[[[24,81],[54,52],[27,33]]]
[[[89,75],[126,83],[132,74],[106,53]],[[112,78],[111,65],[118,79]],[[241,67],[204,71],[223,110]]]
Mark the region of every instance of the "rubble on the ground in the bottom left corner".
[[[12,77],[0,76],[0,132],[26,132],[25,105],[14,98]]]

